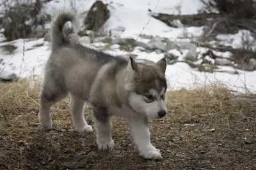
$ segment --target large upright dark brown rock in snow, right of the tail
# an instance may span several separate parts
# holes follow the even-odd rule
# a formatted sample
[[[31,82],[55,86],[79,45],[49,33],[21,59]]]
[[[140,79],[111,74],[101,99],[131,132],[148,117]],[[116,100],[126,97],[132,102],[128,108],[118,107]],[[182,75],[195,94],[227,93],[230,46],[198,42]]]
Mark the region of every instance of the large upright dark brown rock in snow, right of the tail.
[[[97,32],[108,18],[108,5],[102,3],[102,1],[96,1],[87,13],[84,25],[86,25],[86,29]]]

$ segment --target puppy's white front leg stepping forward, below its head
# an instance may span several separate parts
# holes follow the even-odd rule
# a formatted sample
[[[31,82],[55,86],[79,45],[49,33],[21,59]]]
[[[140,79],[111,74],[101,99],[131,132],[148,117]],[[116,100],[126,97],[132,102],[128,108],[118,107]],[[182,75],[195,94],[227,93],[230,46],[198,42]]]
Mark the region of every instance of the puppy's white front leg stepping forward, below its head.
[[[162,156],[160,151],[150,142],[148,118],[131,117],[128,120],[128,124],[134,143],[138,146],[140,151],[140,155],[145,159],[161,160]]]

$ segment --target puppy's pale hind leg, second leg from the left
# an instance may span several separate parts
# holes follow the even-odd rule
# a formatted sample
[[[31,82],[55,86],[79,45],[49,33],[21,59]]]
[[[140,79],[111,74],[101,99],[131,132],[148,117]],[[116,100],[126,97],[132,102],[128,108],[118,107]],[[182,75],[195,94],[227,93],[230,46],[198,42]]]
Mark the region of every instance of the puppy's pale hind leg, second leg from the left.
[[[80,99],[74,94],[70,94],[71,103],[71,113],[73,124],[75,125],[75,129],[77,132],[90,133],[93,131],[92,126],[88,125],[86,120],[84,119],[84,101]]]

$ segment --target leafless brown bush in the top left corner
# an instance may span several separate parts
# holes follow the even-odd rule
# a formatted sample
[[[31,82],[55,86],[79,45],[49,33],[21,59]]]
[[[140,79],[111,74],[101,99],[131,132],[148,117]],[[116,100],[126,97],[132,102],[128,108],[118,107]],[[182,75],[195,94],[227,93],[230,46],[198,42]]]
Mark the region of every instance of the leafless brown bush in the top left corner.
[[[42,8],[40,0],[36,0],[35,3],[16,0],[12,1],[12,4],[5,1],[2,5],[4,36],[7,41],[38,36],[38,32],[33,32],[33,28],[44,25],[45,20],[49,19],[38,14]]]

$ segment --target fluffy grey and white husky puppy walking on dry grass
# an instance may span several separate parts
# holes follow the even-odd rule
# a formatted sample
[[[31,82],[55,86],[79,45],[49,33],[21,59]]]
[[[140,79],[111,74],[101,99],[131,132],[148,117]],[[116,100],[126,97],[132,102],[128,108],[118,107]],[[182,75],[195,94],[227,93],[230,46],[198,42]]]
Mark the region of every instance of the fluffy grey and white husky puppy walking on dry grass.
[[[38,118],[45,130],[52,129],[50,108],[68,94],[72,121],[78,132],[92,132],[84,119],[84,103],[93,108],[93,121],[99,150],[111,150],[112,116],[125,118],[145,159],[162,159],[150,142],[148,119],[166,115],[166,60],[155,64],[138,64],[131,57],[123,59],[86,48],[63,33],[70,21],[74,31],[79,20],[71,11],[63,11],[52,21],[52,53],[45,67],[40,93]]]

